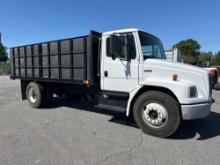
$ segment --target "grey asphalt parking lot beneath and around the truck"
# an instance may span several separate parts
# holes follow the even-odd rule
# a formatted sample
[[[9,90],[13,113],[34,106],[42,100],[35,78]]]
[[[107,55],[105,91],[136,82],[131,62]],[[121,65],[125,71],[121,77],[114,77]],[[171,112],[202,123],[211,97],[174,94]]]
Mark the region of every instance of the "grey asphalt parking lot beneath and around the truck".
[[[170,138],[143,134],[124,114],[59,98],[44,109],[21,101],[19,81],[0,77],[0,164],[216,164],[220,91],[209,117],[185,121]]]

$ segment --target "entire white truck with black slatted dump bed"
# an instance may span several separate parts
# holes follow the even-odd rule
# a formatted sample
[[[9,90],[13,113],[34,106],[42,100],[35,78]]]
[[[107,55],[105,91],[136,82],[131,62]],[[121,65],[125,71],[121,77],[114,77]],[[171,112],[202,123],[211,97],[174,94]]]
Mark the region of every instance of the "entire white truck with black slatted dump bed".
[[[98,106],[133,115],[144,133],[168,137],[181,120],[208,116],[206,70],[165,60],[159,38],[130,28],[10,49],[11,78],[34,108],[53,94],[93,95]],[[98,97],[96,97],[98,96]]]

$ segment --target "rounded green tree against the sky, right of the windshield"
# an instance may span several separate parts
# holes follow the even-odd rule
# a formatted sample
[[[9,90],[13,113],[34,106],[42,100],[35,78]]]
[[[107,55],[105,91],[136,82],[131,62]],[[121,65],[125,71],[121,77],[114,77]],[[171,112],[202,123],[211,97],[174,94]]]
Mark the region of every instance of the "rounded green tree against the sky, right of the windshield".
[[[195,57],[200,49],[199,43],[194,39],[182,40],[176,43],[173,48],[177,48],[183,56]]]

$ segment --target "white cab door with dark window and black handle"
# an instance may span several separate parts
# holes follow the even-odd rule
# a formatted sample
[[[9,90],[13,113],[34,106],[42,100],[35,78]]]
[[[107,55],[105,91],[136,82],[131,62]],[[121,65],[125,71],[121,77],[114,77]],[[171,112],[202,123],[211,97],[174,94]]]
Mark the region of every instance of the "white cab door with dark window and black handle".
[[[134,33],[103,37],[101,88],[130,92],[138,85],[138,51]],[[113,42],[113,43],[112,43]]]

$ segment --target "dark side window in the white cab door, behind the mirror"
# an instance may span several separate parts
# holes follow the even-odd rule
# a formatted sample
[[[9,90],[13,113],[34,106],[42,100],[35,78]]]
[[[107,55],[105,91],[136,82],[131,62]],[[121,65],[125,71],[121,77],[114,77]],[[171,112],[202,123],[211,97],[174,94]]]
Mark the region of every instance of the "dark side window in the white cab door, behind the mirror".
[[[107,38],[107,56],[111,57],[110,54],[110,38]],[[116,58],[129,58],[135,59],[136,58],[136,48],[134,42],[134,36],[132,33],[122,34],[117,36],[117,52]]]

